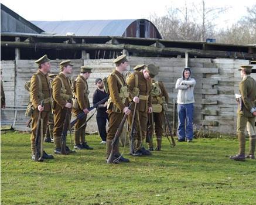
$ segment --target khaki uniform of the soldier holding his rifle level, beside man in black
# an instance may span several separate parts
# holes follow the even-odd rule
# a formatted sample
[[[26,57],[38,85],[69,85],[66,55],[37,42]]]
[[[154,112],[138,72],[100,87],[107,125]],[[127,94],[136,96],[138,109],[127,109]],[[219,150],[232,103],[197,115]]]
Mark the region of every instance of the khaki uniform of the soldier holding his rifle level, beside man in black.
[[[80,112],[83,112],[84,109],[90,107],[88,94],[90,91],[88,90],[88,84],[86,81],[86,78],[83,76],[77,76],[74,84],[74,104],[72,111],[74,115],[80,114]],[[75,145],[79,145],[80,143],[85,143],[85,135],[86,135],[86,125],[81,127],[81,125],[86,122],[87,115],[84,118],[78,119],[76,124],[74,125],[75,131],[74,131],[74,142]],[[78,129],[79,128],[79,129]]]

